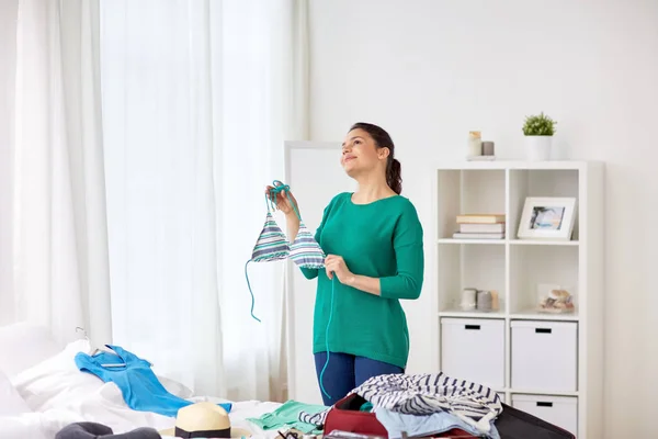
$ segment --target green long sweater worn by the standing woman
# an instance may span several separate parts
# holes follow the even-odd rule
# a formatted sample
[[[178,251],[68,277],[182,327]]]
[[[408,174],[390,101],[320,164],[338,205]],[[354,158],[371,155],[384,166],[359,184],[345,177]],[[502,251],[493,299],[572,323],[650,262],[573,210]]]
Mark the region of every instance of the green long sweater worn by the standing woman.
[[[325,270],[302,269],[318,279],[314,353],[326,351],[333,288],[329,351],[366,357],[406,368],[409,331],[400,299],[418,299],[423,282],[423,232],[413,204],[390,196],[354,204],[352,193],[334,196],[315,235],[327,255],[341,256],[354,274],[379,279],[382,295],[343,285]],[[333,285],[332,285],[333,284]]]

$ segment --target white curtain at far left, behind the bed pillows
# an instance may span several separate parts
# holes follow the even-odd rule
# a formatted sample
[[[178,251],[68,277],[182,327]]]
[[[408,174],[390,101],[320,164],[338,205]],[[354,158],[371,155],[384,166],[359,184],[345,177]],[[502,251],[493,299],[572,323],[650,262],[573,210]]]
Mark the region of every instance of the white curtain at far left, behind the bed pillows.
[[[110,340],[98,1],[2,4],[1,323]]]

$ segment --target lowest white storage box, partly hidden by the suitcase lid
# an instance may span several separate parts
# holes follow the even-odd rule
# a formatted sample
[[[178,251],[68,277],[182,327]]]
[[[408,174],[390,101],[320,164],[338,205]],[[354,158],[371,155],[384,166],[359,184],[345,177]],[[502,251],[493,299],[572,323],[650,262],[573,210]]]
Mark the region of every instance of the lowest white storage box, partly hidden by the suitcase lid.
[[[578,436],[578,398],[575,396],[512,395],[512,407]]]

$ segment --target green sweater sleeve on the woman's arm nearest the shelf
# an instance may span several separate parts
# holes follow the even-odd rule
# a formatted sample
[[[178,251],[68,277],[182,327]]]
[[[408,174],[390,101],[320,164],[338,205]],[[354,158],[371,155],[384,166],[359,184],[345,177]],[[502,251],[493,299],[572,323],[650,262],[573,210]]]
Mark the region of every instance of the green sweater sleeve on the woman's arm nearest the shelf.
[[[379,278],[385,299],[413,300],[420,296],[424,274],[423,230],[411,203],[402,211],[394,229],[393,246],[397,273]]]

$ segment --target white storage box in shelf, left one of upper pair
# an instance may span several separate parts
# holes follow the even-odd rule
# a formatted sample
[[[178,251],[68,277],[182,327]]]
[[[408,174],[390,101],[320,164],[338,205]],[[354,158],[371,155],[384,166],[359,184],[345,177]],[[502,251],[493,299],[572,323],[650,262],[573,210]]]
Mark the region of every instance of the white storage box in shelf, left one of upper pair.
[[[504,389],[504,320],[442,318],[441,371],[491,389]]]

